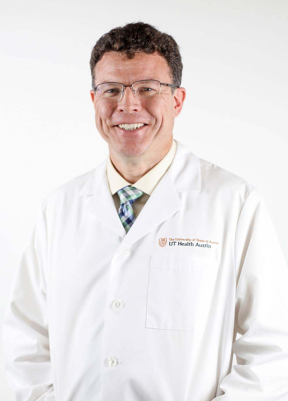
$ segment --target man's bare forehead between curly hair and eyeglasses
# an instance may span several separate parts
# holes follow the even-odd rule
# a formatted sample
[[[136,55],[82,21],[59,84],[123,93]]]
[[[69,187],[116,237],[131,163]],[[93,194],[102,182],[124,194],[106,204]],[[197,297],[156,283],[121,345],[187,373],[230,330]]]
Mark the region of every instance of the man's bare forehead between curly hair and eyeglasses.
[[[136,53],[133,59],[116,51],[104,53],[95,66],[95,84],[110,81],[130,84],[141,79],[170,83],[167,61],[158,53]]]

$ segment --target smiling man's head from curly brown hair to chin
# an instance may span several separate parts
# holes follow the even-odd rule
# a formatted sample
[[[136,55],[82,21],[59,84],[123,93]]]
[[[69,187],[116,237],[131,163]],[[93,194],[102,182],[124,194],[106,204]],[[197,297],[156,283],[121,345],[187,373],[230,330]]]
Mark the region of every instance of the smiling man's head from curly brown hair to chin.
[[[143,22],[114,28],[97,41],[90,68],[93,88],[104,82],[131,85],[141,80],[157,80],[177,87],[159,85],[160,93],[139,97],[132,87],[124,87],[118,101],[107,101],[107,92],[112,96],[114,89],[105,94],[90,91],[96,127],[108,143],[110,154],[127,159],[160,151],[163,157],[172,144],[174,119],[186,95],[185,89],[180,88],[182,61],[174,38]],[[151,88],[143,91],[147,93]],[[125,123],[145,126],[129,131],[118,127]]]

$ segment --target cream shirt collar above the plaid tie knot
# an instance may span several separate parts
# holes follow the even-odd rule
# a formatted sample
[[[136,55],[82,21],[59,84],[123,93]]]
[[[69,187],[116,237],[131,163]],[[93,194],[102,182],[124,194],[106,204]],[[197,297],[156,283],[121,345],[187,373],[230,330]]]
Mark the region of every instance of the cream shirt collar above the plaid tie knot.
[[[107,158],[106,164],[106,174],[108,179],[108,184],[110,188],[110,192],[112,195],[116,193],[119,189],[123,188],[127,185],[132,185],[138,188],[139,190],[145,192],[148,195],[151,195],[154,188],[157,186],[158,182],[161,180],[162,176],[165,174],[167,169],[169,168],[172,160],[175,156],[176,152],[176,142],[172,141],[172,146],[170,150],[165,154],[165,156],[153,167],[149,170],[143,177],[139,178],[134,184],[126,181],[115,169],[114,165],[111,162],[110,157]]]

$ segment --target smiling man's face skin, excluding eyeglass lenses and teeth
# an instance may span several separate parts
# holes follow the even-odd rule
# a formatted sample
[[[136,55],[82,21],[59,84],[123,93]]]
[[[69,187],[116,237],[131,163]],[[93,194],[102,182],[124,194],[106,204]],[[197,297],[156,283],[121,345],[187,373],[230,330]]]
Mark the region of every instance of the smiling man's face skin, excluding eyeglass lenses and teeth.
[[[99,83],[120,82],[131,85],[135,81],[157,79],[161,83],[172,83],[166,60],[157,53],[136,53],[127,59],[119,52],[104,53],[95,66],[95,86]],[[161,85],[158,97],[138,99],[132,87],[125,87],[118,102],[103,102],[97,93],[90,91],[95,109],[96,127],[108,143],[110,152],[119,157],[155,154],[159,149],[169,150],[172,143],[174,118],[180,113],[185,98],[185,89]],[[119,124],[144,123],[133,131],[118,127]]]

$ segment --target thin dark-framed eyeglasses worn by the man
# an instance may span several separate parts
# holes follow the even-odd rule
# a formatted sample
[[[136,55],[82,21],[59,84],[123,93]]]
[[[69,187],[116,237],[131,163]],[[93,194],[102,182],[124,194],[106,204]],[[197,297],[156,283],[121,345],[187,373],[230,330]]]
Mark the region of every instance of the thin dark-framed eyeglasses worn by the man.
[[[119,82],[99,83],[93,90],[97,92],[100,101],[105,102],[119,101],[123,96],[124,87],[129,86],[132,87],[133,93],[138,99],[154,99],[160,95],[161,85],[178,88],[171,83],[161,83],[157,79],[145,79],[133,82],[131,85],[123,85]]]

